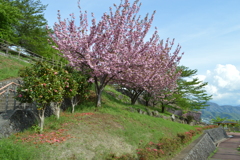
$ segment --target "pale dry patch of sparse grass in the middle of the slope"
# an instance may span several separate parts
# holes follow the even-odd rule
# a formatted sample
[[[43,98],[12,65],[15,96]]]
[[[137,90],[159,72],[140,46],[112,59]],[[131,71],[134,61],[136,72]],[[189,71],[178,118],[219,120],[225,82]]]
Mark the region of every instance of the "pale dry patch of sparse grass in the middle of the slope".
[[[124,130],[124,126],[116,122],[114,116],[94,114],[76,118],[78,121],[71,125],[67,133],[73,138],[59,146],[50,147],[50,159],[101,160],[110,153],[119,156],[135,153],[135,147],[111,133],[113,130]]]

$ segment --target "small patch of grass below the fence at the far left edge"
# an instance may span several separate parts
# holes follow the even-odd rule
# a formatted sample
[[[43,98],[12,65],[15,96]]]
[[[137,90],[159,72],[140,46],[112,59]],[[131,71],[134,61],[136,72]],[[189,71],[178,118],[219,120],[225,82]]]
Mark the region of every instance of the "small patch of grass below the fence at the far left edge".
[[[0,55],[0,81],[19,77],[18,71],[29,65],[29,63],[16,58]]]

